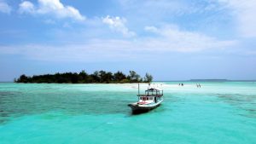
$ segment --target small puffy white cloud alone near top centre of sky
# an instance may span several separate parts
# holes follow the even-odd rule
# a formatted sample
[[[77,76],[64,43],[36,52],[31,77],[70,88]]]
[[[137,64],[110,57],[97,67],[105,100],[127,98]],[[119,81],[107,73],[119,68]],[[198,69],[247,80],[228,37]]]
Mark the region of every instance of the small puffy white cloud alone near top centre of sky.
[[[125,18],[110,17],[109,15],[105,18],[102,18],[102,22],[108,24],[108,26],[116,32],[121,32],[125,37],[133,37],[136,35],[135,32],[129,31],[129,29],[125,26],[126,20]]]

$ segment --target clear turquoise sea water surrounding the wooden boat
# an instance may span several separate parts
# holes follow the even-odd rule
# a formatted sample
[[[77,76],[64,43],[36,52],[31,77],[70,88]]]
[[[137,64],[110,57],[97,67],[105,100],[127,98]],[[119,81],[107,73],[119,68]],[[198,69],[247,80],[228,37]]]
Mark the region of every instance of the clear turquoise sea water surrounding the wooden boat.
[[[256,143],[256,83],[160,84],[162,105],[132,115],[137,84],[0,83],[0,143]]]

